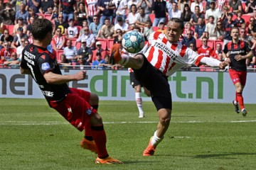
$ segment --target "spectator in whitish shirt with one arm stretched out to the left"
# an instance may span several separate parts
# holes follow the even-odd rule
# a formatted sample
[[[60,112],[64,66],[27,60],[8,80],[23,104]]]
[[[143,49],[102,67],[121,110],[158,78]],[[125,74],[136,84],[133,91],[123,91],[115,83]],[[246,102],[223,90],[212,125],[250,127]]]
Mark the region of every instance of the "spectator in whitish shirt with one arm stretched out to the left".
[[[78,42],[82,42],[82,40],[86,40],[87,47],[90,47],[91,50],[95,49],[95,36],[90,33],[89,27],[85,26],[84,28],[84,34],[82,34],[78,40],[75,41],[75,46]]]

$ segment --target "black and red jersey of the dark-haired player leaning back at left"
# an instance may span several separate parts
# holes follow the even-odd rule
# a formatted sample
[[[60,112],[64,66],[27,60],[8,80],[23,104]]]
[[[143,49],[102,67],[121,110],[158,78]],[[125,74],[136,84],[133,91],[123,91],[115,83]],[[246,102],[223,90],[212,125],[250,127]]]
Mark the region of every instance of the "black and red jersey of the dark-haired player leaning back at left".
[[[47,101],[60,101],[66,94],[70,93],[67,84],[48,84],[43,77],[46,72],[61,74],[56,57],[46,48],[32,44],[24,47],[21,67],[29,70]]]

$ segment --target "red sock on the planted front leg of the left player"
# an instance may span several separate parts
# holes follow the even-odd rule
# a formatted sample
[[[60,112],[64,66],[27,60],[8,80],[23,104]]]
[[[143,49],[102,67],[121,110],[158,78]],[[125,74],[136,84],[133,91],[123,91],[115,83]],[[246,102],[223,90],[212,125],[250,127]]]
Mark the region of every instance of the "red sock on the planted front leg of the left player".
[[[95,140],[98,157],[99,158],[108,157],[107,148],[106,148],[107,137],[106,137],[106,133],[103,128],[103,125],[92,126],[91,130],[92,130],[92,137]]]

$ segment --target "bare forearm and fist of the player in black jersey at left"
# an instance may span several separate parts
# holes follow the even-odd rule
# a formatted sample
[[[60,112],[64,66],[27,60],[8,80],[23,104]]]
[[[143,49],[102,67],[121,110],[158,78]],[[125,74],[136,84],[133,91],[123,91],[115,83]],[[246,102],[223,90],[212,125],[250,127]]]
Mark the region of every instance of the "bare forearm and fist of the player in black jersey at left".
[[[46,79],[48,84],[65,84],[69,81],[79,81],[85,79],[86,72],[80,71],[76,74],[70,75],[62,75],[62,74],[55,74],[53,72],[46,72],[43,74],[43,77]]]

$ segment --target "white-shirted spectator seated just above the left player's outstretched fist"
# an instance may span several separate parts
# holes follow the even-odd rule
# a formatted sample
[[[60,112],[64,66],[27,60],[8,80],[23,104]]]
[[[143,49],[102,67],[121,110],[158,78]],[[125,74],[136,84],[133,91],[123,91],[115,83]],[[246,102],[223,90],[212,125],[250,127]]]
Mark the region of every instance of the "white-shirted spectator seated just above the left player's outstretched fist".
[[[70,62],[77,62],[78,60],[78,50],[75,46],[72,45],[72,41],[71,40],[67,40],[67,46],[64,47],[64,55],[67,57],[68,60],[70,60]]]

